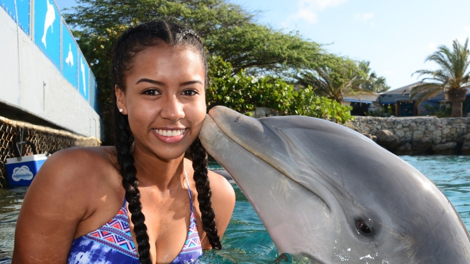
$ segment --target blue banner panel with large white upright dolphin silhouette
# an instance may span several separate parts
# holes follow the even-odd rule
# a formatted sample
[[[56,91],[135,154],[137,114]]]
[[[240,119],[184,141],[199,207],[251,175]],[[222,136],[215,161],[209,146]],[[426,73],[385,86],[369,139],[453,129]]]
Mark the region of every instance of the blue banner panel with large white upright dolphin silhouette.
[[[60,15],[52,0],[34,1],[34,42],[60,69]]]

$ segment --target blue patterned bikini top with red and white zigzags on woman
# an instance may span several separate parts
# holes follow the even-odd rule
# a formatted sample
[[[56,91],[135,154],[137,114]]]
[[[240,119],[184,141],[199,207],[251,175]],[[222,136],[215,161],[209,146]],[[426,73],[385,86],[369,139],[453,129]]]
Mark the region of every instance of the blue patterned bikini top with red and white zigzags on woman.
[[[186,176],[188,183],[188,177]],[[189,186],[189,183],[188,183]],[[191,218],[185,245],[171,262],[172,264],[196,263],[202,255],[201,240],[197,233],[196,218],[192,208],[191,190],[189,190]],[[126,199],[118,214],[105,225],[83,237],[75,239],[69,253],[69,264],[139,264],[134,241],[132,240],[127,216]]]

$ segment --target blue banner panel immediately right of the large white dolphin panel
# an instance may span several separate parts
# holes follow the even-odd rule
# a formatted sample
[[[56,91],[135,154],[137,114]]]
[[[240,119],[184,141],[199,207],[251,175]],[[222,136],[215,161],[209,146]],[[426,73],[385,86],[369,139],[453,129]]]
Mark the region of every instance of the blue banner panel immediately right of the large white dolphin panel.
[[[62,74],[78,88],[78,48],[69,29],[62,23]]]

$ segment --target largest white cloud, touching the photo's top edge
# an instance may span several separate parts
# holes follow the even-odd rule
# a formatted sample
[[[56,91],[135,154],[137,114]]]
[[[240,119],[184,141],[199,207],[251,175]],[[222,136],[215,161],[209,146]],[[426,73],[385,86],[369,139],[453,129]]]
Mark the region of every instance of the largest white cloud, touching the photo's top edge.
[[[297,11],[288,16],[284,24],[292,20],[305,20],[308,23],[315,23],[318,20],[317,12],[330,6],[340,5],[347,0],[299,0]]]

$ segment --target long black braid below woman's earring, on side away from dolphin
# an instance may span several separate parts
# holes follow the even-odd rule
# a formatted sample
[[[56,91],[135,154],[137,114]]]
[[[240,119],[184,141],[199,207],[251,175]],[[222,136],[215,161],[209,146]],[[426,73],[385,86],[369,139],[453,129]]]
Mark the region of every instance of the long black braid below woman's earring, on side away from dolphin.
[[[139,181],[136,177],[137,171],[134,166],[134,156],[131,153],[129,144],[129,138],[131,137],[128,129],[129,120],[127,116],[119,113],[117,109],[114,112],[118,163],[122,175],[122,186],[126,190],[126,200],[129,203],[129,211],[132,214],[131,221],[134,224],[134,233],[137,238],[139,261],[141,264],[150,264],[150,244],[148,242],[147,226],[144,222],[145,217],[142,214],[141,193],[137,188]]]

